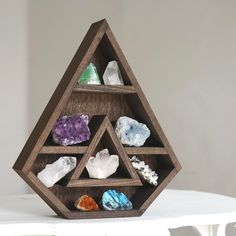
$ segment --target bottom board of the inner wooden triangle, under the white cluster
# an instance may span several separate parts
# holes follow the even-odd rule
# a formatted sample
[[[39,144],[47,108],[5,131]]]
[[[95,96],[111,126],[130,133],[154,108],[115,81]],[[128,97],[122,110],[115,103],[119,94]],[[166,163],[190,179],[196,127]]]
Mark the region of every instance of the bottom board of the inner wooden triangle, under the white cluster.
[[[128,178],[108,178],[108,179],[79,179],[71,180],[67,187],[98,187],[98,186],[142,186],[142,183],[137,179]]]

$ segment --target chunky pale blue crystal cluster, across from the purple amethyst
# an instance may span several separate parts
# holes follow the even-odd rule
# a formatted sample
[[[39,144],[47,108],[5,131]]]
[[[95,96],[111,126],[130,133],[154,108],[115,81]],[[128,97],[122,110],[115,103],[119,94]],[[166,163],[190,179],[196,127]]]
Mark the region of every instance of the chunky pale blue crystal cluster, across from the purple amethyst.
[[[142,146],[150,136],[150,130],[145,124],[127,116],[117,120],[115,131],[122,144],[135,147]]]

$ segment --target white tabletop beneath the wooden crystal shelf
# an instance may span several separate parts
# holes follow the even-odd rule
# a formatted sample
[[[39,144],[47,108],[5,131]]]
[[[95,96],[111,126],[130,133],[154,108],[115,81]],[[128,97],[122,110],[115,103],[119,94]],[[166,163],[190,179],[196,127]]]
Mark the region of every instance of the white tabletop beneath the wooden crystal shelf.
[[[236,222],[235,198],[196,191],[164,190],[141,217],[96,220],[59,218],[35,194],[0,197],[0,235],[4,236],[153,235],[153,232],[165,236],[169,235],[166,229],[183,226],[194,226],[201,235],[224,235],[224,227],[214,230],[209,226],[232,222]]]

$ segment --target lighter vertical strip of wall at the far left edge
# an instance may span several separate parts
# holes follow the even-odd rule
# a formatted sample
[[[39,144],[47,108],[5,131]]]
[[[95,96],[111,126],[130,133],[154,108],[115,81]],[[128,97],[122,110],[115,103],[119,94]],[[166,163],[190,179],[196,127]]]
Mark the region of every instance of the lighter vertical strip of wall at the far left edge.
[[[25,191],[11,169],[28,121],[27,1],[0,0],[0,195]]]

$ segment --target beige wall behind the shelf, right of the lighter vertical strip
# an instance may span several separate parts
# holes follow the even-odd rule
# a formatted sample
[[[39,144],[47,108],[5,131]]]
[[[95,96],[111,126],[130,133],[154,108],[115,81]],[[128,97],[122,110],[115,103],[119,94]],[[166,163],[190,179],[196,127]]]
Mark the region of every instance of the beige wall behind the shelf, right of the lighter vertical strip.
[[[236,1],[30,1],[33,126],[91,22],[107,18],[183,169],[236,196]]]

